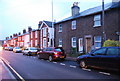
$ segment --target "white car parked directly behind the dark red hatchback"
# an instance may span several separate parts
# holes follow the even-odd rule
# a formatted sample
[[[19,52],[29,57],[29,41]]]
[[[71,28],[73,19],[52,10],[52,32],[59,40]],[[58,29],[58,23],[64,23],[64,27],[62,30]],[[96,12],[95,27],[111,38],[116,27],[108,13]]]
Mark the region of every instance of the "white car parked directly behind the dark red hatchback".
[[[25,48],[22,52],[23,52],[23,55],[35,55],[37,54],[38,50],[35,47],[28,47],[28,48]]]

